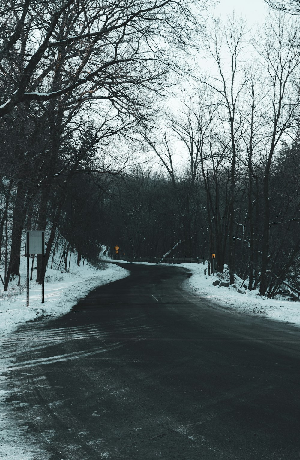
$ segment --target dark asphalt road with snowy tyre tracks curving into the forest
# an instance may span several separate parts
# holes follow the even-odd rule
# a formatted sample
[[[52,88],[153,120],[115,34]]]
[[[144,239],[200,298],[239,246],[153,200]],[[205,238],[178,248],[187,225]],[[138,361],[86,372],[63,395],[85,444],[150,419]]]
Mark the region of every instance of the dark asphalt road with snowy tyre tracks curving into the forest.
[[[300,329],[193,295],[188,270],[124,267],[128,278],[2,346],[33,449],[43,460],[299,460]]]

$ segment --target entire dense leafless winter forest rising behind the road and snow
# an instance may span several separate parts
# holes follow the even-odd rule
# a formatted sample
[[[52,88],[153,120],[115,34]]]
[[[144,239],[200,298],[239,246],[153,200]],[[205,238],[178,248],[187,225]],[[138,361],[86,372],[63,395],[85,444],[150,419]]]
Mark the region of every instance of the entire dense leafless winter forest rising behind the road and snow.
[[[269,4],[251,34],[205,0],[2,2],[4,290],[26,230],[45,230],[48,267],[57,250],[61,270],[74,252],[96,265],[116,244],[215,253],[232,283],[299,293],[299,11]]]

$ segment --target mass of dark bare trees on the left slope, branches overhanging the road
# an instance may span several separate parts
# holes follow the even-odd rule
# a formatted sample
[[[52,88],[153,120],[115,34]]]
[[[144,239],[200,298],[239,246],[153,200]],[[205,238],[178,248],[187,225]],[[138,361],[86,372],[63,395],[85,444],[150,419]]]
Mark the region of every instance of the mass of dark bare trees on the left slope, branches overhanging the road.
[[[99,218],[88,214],[90,206],[98,209],[108,177],[122,172],[139,148],[137,127],[156,119],[168,88],[190,71],[183,57],[191,42],[197,46],[207,6],[202,0],[2,2],[5,290],[14,277],[20,282],[25,230],[46,229],[46,263],[60,235],[69,238],[78,263],[82,256],[96,259]],[[38,256],[38,282],[42,275]]]

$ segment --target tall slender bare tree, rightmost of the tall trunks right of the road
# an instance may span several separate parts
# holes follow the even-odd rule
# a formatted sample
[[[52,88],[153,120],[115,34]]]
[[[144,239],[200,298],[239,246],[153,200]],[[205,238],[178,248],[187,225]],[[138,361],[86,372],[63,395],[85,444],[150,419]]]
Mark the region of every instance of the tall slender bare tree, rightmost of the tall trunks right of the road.
[[[295,81],[299,79],[300,44],[299,24],[282,14],[270,18],[256,40],[263,66],[260,91],[265,94],[265,146],[262,149],[264,164],[264,228],[261,255],[260,293],[265,294],[269,276],[268,260],[271,200],[269,181],[273,156],[283,136],[293,134],[299,127],[300,97]]]

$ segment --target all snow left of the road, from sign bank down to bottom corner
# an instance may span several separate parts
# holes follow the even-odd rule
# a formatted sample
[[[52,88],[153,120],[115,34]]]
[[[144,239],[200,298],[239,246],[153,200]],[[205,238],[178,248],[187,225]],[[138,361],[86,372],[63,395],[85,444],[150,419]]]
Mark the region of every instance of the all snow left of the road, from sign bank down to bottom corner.
[[[5,343],[17,326],[26,321],[34,321],[42,316],[60,316],[76,305],[92,289],[103,284],[116,281],[130,274],[114,264],[107,264],[105,270],[96,270],[85,263],[82,267],[76,264],[72,254],[70,273],[60,270],[46,271],[45,303],[41,303],[41,286],[35,281],[30,282],[29,307],[26,307],[25,286],[26,259],[21,258],[21,287],[16,282],[10,283],[8,293],[0,291],[0,338]],[[35,273],[34,273],[35,275]],[[23,291],[23,292],[22,292]],[[21,292],[21,293],[20,293]],[[51,455],[45,453],[37,444],[33,446],[32,436],[27,434],[21,415],[6,403],[15,388],[8,387],[6,375],[11,360],[0,356],[0,458],[7,460],[49,460]]]

